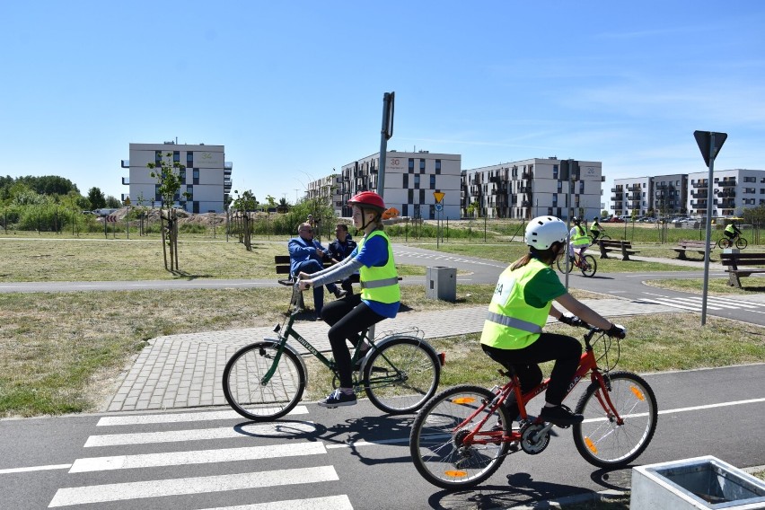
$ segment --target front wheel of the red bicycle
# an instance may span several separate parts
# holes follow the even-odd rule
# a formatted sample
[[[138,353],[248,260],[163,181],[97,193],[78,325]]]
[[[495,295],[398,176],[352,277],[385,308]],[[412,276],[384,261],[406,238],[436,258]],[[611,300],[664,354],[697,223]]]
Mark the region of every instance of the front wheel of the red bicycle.
[[[592,383],[576,404],[576,413],[585,415],[585,421],[574,426],[574,444],[585,461],[594,466],[620,468],[637,459],[654,437],[656,397],[637,374],[613,372],[603,377],[623,423],[615,421],[611,409],[603,409],[601,387]]]

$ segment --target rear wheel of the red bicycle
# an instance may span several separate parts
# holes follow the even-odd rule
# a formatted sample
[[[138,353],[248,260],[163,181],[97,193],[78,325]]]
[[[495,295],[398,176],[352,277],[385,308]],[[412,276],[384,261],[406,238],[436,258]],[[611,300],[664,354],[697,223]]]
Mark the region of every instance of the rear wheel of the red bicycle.
[[[504,435],[510,434],[512,418],[507,418],[505,406],[489,413],[484,405],[494,397],[492,391],[479,386],[454,386],[419,411],[409,435],[409,453],[424,479],[440,488],[466,488],[494,474],[505,460],[509,443],[462,443],[484,418],[484,430],[496,426],[501,418]]]

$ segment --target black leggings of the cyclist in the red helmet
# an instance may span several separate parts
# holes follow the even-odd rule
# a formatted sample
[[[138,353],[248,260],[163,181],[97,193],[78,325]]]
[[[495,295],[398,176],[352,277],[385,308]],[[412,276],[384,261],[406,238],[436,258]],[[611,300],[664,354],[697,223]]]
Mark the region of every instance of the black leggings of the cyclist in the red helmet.
[[[358,344],[359,333],[385,317],[372,311],[361,302],[361,295],[349,295],[327,303],[321,311],[321,319],[331,326],[327,336],[332,346],[332,356],[338,368],[341,388],[353,387],[353,366],[351,366],[348,340],[354,347]]]

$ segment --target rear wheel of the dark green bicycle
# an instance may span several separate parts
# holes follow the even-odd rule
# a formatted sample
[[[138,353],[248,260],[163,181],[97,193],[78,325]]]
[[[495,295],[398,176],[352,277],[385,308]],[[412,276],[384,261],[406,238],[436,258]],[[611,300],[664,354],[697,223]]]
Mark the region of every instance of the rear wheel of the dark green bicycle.
[[[435,394],[441,362],[415,337],[400,337],[374,350],[364,368],[366,396],[387,413],[414,412]]]

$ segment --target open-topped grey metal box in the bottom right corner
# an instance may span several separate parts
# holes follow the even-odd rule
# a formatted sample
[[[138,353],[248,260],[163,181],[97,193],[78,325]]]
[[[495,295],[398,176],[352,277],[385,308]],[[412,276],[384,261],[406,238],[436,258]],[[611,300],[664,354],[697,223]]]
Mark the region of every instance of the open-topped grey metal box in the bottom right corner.
[[[765,481],[707,455],[632,469],[629,510],[765,508]]]

